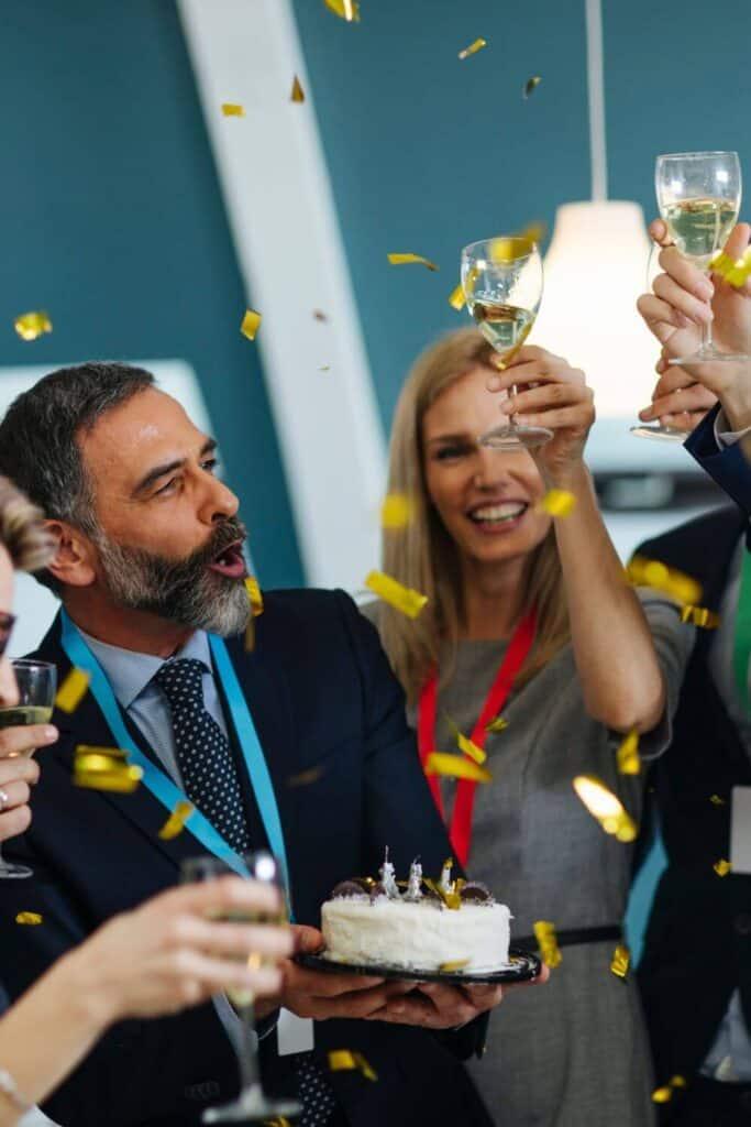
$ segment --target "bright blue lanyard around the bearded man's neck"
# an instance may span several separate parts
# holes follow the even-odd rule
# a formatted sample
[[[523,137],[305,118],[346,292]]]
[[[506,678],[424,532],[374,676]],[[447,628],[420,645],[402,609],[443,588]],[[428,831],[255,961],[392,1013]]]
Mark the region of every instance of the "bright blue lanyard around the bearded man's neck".
[[[160,767],[152,763],[132,739],[117,700],[113,692],[107,676],[99,665],[99,662],[87,646],[78,627],[71,621],[65,611],[62,615],[62,647],[65,650],[72,665],[83,669],[91,677],[89,691],[99,706],[105,720],[111,731],[115,744],[127,753],[128,763],[140,766],[143,771],[143,786],[146,787],[154,798],[162,804],[166,810],[172,811],[179,801],[187,800],[179,787]],[[226,646],[221,638],[214,635],[208,636],[212,655],[216,663],[216,672],[220,683],[224,690],[232,724],[242,748],[242,754],[248,769],[248,775],[253,787],[258,808],[260,810],[263,828],[268,837],[271,852],[281,866],[285,884],[287,882],[287,852],[284,843],[281,819],[277,806],[274,784],[266,764],[263,751],[253,725],[248,702],[240,689],[238,676],[226,651]],[[202,845],[225,862],[231,869],[242,877],[248,876],[248,870],[240,857],[227,845],[222,835],[216,832],[211,822],[197,808],[190,815],[186,829],[196,837]]]

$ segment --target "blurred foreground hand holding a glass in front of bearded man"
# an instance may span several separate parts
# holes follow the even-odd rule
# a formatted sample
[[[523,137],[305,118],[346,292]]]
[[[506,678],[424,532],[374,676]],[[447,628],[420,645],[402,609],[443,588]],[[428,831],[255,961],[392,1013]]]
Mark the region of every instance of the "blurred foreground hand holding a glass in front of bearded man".
[[[225,921],[281,911],[279,890],[258,881],[227,876],[184,885],[110,920],[63,964],[101,1028],[177,1013],[223,991],[276,995],[281,960],[293,953],[289,928]],[[249,965],[251,955],[262,962]]]

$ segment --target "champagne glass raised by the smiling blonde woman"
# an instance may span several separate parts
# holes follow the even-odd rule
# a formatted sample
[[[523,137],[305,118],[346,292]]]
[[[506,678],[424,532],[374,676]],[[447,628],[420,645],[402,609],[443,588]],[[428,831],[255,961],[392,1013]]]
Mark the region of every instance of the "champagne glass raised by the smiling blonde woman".
[[[470,313],[498,353],[498,367],[504,369],[529,336],[543,299],[537,246],[515,236],[471,243],[462,251],[462,289]],[[520,425],[511,416],[477,441],[495,450],[519,450],[544,446],[552,437],[547,427]]]

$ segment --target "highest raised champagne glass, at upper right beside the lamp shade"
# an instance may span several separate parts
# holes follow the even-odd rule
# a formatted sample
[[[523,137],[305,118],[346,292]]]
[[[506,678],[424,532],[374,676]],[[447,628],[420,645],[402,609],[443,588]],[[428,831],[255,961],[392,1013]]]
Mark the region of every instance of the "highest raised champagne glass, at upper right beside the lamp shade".
[[[660,214],[680,252],[709,273],[709,263],[725,246],[741,207],[741,165],[736,152],[673,152],[658,157],[654,186]],[[712,325],[703,328],[701,346],[671,364],[745,361],[748,356],[718,352]]]

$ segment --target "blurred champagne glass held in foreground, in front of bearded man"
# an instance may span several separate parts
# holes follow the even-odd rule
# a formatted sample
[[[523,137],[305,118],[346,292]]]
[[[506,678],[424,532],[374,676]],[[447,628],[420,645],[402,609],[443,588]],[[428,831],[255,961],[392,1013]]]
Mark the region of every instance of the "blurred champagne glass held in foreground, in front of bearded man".
[[[279,888],[284,903],[279,866],[276,859],[265,850],[259,850],[254,853],[245,853],[242,860],[245,863],[249,877]],[[198,857],[182,862],[181,879],[185,884],[198,880],[216,880],[220,877],[226,877],[230,871],[227,866],[223,861],[220,861],[218,858],[208,855]],[[223,919],[230,923],[281,924],[287,923],[287,913],[284,908],[271,915],[265,912],[233,912],[223,916]],[[249,952],[248,966],[251,969],[256,969],[262,962],[263,959],[261,956]],[[233,987],[227,991],[227,995],[238,1011],[241,1022],[241,1035],[235,1045],[238,1063],[240,1065],[240,1094],[230,1103],[224,1103],[217,1108],[207,1108],[203,1113],[203,1121],[205,1124],[254,1122],[298,1115],[301,1107],[295,1100],[271,1099],[263,1091],[258,1064],[254,996],[252,991]]]

